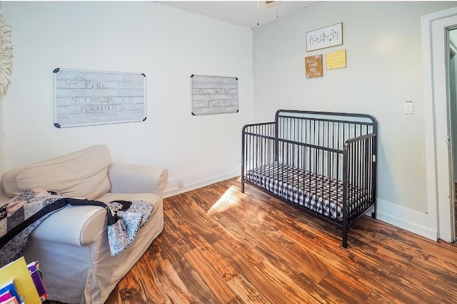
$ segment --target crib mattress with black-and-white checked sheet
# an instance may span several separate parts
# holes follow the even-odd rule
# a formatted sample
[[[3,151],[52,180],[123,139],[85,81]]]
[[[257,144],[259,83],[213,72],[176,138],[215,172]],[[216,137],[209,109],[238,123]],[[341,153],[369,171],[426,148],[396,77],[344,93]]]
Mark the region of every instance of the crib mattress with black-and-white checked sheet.
[[[343,220],[342,181],[278,162],[248,170],[245,178],[287,201],[335,221]],[[368,193],[351,185],[348,190],[350,209],[358,210],[358,205],[367,201]]]

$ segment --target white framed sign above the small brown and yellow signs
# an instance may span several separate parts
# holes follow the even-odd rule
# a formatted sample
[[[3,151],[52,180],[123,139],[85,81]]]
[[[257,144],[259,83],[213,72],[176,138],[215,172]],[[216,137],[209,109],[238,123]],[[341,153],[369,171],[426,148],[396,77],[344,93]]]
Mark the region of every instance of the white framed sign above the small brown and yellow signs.
[[[306,32],[306,51],[315,51],[343,44],[343,23]]]

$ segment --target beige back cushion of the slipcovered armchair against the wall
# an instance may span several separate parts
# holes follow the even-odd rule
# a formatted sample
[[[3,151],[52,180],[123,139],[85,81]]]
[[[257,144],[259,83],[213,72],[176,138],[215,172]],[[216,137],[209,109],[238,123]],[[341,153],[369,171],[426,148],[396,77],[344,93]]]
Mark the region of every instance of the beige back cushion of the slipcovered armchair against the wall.
[[[96,199],[109,192],[108,167],[111,155],[105,145],[94,145],[61,157],[5,172],[5,194],[44,189],[64,196]]]

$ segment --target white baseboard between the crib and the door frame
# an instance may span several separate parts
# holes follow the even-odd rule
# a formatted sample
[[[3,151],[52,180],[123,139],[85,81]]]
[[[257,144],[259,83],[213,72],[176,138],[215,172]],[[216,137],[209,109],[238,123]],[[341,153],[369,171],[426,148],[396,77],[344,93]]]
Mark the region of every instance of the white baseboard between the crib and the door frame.
[[[428,227],[428,214],[378,199],[378,214],[376,218],[401,229],[406,229],[436,241],[438,232]]]

